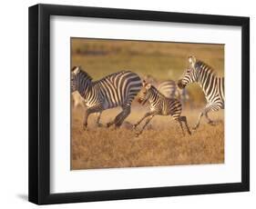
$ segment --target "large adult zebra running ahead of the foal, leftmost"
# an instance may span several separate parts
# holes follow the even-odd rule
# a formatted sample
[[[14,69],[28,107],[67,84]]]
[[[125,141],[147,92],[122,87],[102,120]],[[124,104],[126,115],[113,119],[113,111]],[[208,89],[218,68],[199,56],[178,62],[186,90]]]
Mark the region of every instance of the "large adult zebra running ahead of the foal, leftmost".
[[[92,77],[83,71],[81,66],[74,66],[71,70],[71,92],[78,91],[87,106],[83,121],[85,130],[89,114],[99,113],[97,118],[99,124],[102,111],[121,106],[122,112],[107,124],[107,127],[112,124],[119,127],[130,114],[131,102],[138,95],[141,86],[140,77],[131,71],[107,75],[93,82]]]

